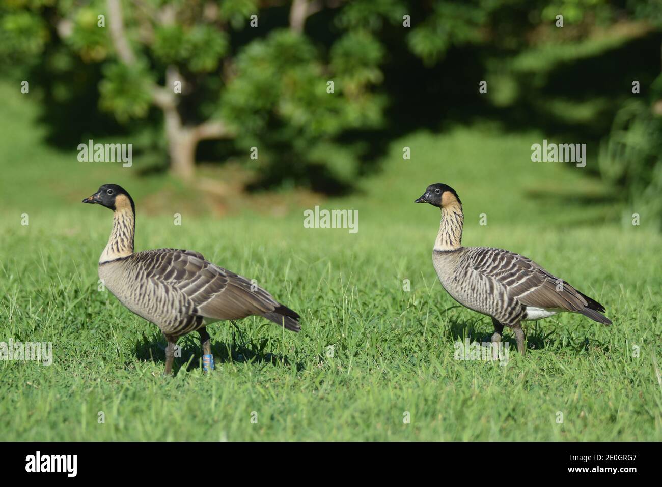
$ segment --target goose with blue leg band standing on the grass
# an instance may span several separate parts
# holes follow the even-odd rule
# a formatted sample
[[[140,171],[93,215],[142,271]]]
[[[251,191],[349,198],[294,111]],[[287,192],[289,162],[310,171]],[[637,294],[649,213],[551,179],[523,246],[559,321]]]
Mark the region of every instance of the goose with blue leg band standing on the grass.
[[[251,281],[191,250],[133,251],[135,206],[117,184],[104,184],[85,198],[114,211],[113,231],[99,258],[99,278],[136,315],[156,324],[167,340],[166,375],[172,371],[177,338],[200,334],[205,370],[213,369],[208,324],[251,315],[299,332],[299,315]]]

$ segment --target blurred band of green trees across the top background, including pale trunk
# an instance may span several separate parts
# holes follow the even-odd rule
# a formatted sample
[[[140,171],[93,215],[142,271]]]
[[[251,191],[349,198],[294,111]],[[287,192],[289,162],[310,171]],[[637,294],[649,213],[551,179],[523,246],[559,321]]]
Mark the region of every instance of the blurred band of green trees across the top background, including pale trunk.
[[[568,61],[635,36],[594,34],[637,10],[659,13],[636,0],[4,0],[0,59],[40,77],[59,108],[53,124],[96,130],[96,102],[134,135],[163,128],[181,178],[193,176],[201,141],[227,139],[244,154],[258,149],[261,174],[302,180],[313,167],[328,174],[348,131],[423,120],[423,110],[437,124],[489,103],[502,118],[524,107],[527,123],[540,106],[572,112],[567,93],[547,102],[545,87],[567,85],[558,73]],[[489,76],[487,98],[477,76]],[[416,96],[421,104],[408,105]]]

